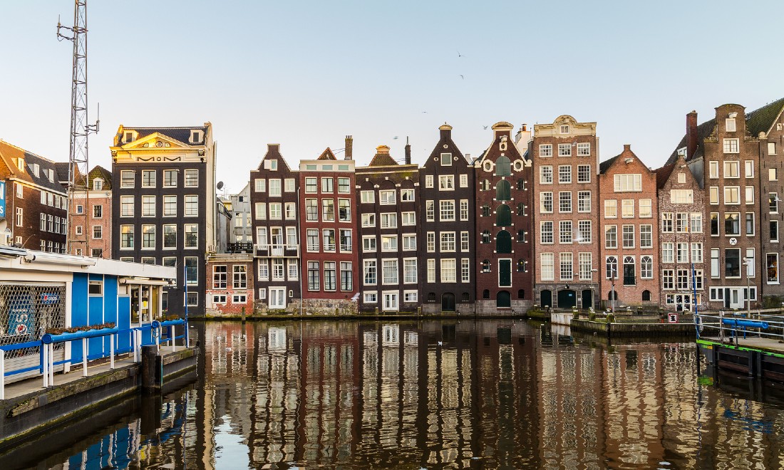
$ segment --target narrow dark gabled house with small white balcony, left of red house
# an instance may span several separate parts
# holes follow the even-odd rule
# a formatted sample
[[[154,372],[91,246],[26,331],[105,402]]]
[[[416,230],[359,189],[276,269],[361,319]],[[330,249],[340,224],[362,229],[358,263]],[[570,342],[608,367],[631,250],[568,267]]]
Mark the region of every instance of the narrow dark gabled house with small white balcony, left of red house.
[[[259,168],[250,172],[250,185],[256,307],[286,309],[301,297],[299,172],[289,168],[280,145],[270,143]]]

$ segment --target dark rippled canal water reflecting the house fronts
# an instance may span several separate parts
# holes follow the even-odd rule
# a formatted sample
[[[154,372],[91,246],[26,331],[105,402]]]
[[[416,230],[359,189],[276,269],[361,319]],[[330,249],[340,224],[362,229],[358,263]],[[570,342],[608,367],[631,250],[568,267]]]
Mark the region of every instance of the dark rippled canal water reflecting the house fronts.
[[[0,466],[784,465],[782,389],[713,376],[693,343],[608,342],[513,320],[192,331],[203,354],[191,383],[118,403]]]

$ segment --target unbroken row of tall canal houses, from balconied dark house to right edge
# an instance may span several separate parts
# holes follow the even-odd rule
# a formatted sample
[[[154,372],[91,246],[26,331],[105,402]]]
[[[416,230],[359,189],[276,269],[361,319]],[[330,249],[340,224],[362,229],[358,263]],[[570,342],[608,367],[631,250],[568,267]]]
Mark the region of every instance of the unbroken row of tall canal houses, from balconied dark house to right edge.
[[[782,106],[688,114],[655,170],[628,145],[601,161],[596,123],[568,115],[514,135],[499,122],[475,159],[442,125],[421,167],[410,146],[402,164],[379,146],[356,167],[350,136],[343,158],[299,168],[270,145],[250,175],[257,305],[719,309],[781,295]]]

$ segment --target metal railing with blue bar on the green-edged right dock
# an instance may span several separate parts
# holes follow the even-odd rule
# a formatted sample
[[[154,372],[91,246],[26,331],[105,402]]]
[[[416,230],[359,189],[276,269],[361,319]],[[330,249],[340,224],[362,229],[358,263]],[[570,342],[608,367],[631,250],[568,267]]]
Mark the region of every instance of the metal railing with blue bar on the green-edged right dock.
[[[739,338],[768,338],[784,340],[784,312],[773,310],[762,312],[696,313],[697,339],[709,335],[720,342],[729,340],[737,345]]]

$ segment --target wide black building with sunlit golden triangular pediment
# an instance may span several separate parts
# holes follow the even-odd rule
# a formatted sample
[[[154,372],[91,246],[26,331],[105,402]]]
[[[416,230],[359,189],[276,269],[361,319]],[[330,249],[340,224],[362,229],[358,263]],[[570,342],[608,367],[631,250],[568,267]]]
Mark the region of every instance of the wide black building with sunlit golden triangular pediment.
[[[203,314],[205,253],[219,251],[212,125],[120,125],[110,150],[112,257],[176,266],[163,308]]]

